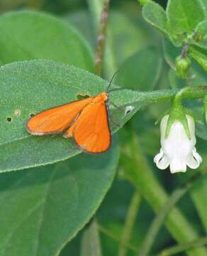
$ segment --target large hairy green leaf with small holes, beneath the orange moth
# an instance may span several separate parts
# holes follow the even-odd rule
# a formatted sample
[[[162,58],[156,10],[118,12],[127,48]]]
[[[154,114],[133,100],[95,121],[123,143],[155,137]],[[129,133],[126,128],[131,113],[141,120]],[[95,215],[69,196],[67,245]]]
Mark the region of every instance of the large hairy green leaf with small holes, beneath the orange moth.
[[[61,135],[32,137],[25,124],[30,114],[78,99],[79,95],[97,95],[108,81],[69,65],[48,60],[11,63],[0,68],[0,171],[11,171],[67,159],[79,150],[72,139]],[[110,116],[124,124],[143,105],[159,98],[169,99],[174,92],[137,92],[116,90],[110,99]],[[134,110],[125,115],[125,106]],[[113,129],[113,127],[112,127]],[[117,126],[114,129],[118,129]],[[114,131],[113,129],[113,131]],[[112,132],[113,132],[112,131]],[[11,161],[12,156],[12,161]]]

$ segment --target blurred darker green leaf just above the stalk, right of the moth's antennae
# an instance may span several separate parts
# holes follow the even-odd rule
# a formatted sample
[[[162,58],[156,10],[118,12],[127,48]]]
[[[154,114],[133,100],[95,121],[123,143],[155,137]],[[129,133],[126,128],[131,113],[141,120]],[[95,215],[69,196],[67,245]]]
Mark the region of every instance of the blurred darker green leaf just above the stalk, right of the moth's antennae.
[[[154,47],[144,48],[126,59],[116,83],[135,90],[153,90],[160,78],[162,58]]]

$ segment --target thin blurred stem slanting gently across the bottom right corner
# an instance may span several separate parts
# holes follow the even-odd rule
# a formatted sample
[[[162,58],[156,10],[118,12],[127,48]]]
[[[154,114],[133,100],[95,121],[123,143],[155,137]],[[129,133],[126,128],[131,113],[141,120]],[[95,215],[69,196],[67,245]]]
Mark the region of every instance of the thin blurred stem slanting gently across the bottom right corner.
[[[159,256],[177,255],[177,253],[184,252],[186,250],[191,249],[192,247],[200,247],[206,244],[207,244],[207,237],[200,238],[192,242],[186,242],[184,244],[176,245],[176,246],[170,247],[169,249],[165,249],[159,254]]]

